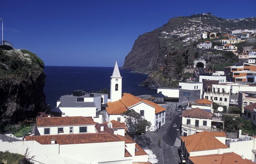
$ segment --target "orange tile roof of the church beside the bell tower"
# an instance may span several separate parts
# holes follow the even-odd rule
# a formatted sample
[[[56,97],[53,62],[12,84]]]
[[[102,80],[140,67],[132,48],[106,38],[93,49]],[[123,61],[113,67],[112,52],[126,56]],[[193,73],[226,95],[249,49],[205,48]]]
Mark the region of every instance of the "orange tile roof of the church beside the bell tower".
[[[119,99],[115,102],[109,102],[108,107],[106,107],[106,110],[108,114],[121,114],[124,111],[128,110],[129,107],[136,105],[140,102],[144,102],[154,107],[155,113],[160,113],[166,110],[165,108],[155,104],[154,102],[145,99],[140,99],[139,97],[136,97],[130,93],[123,93],[122,99]]]

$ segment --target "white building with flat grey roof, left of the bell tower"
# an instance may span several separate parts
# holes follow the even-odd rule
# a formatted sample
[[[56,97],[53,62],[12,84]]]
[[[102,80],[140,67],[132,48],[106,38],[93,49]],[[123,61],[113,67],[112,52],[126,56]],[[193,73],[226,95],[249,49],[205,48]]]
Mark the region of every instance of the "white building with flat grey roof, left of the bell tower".
[[[62,116],[95,117],[101,111],[101,106],[107,102],[108,94],[74,90],[71,95],[61,96],[57,101],[57,108],[52,108],[51,111],[62,113]]]

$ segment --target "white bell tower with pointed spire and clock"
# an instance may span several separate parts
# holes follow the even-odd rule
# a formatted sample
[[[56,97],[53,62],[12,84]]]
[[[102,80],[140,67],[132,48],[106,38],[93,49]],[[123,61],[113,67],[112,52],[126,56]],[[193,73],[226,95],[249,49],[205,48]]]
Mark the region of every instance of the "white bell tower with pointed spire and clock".
[[[110,102],[115,102],[122,98],[122,77],[116,62],[113,74],[111,77],[110,86]]]

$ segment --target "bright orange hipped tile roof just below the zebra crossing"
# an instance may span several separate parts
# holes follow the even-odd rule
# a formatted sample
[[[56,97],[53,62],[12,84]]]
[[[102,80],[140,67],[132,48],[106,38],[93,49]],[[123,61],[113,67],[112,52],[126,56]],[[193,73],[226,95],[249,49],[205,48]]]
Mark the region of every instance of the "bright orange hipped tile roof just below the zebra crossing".
[[[185,147],[188,153],[228,148],[227,145],[215,138],[217,136],[226,137],[226,134],[224,132],[204,131],[190,136],[181,137],[181,140],[185,142]]]

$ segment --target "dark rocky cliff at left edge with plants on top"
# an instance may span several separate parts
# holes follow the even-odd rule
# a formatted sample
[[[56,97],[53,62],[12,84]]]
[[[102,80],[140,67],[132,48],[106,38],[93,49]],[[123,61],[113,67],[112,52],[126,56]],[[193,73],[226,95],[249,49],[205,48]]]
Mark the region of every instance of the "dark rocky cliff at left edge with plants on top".
[[[44,62],[27,50],[0,47],[0,127],[44,109]]]

